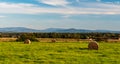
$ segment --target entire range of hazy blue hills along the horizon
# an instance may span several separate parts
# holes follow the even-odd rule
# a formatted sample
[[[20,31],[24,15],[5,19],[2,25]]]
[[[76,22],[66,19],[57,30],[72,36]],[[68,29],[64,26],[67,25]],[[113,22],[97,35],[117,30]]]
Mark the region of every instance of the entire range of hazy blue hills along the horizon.
[[[63,28],[48,28],[45,30],[36,30],[25,27],[8,27],[0,28],[0,32],[60,32],[60,33],[88,33],[88,32],[102,32],[102,33],[120,33],[120,31],[111,31],[111,30],[86,30],[86,29],[63,29]]]

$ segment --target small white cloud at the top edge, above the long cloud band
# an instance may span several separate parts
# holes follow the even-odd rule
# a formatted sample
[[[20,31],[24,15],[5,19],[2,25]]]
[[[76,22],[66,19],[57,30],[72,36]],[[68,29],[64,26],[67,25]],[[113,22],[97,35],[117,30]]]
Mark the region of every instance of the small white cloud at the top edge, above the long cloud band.
[[[40,3],[52,5],[52,6],[66,6],[69,4],[67,0],[38,0]]]

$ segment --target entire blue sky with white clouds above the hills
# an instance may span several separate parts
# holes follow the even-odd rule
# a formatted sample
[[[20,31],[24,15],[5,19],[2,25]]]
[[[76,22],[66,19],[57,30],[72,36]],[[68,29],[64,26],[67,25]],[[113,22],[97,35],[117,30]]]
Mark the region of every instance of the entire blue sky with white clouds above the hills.
[[[120,31],[120,0],[0,0],[0,28]]]

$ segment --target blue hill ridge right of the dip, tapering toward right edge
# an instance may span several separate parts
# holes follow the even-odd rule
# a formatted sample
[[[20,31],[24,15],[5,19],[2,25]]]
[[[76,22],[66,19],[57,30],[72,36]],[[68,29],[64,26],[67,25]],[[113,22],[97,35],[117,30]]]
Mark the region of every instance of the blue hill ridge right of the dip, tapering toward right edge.
[[[101,33],[120,33],[120,31],[112,31],[112,30],[86,30],[86,29],[62,29],[62,28],[48,28],[42,30],[42,32],[62,32],[62,33],[89,33],[89,32],[101,32]]]

